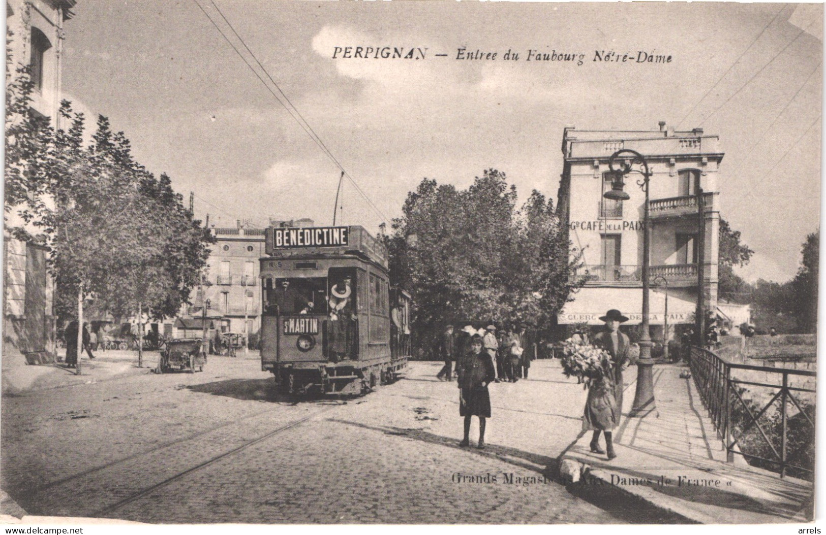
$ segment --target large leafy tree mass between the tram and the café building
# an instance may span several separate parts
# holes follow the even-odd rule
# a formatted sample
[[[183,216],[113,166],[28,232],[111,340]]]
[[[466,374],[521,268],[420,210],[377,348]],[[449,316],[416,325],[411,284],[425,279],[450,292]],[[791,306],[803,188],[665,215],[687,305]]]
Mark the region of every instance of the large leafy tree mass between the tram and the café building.
[[[403,217],[382,237],[392,283],[411,291],[425,345],[449,321],[547,327],[577,286],[553,203],[537,191],[520,210],[516,200],[494,169],[468,190],[424,179],[407,195]]]

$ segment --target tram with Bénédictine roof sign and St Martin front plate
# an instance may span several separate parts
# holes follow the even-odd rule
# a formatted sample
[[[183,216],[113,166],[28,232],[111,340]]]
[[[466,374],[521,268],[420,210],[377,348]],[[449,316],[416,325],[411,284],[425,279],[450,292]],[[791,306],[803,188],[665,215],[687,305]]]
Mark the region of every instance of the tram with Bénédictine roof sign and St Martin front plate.
[[[410,353],[410,295],[364,228],[270,227],[261,258],[261,368],[289,394],[358,395],[393,382]]]

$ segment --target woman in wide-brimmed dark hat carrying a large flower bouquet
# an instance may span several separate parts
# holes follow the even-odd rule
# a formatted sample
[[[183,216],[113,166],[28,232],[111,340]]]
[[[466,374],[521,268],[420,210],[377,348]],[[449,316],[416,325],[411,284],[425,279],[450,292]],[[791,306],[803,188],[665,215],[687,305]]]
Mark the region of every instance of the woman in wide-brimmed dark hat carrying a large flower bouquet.
[[[609,373],[591,382],[585,404],[583,425],[594,432],[591,451],[606,453],[609,459],[616,457],[611,432],[619,425],[622,414],[622,372],[629,361],[629,339],[619,332],[619,324],[628,321],[619,310],[612,308],[600,318],[605,321],[605,331],[594,336],[593,343],[608,351],[613,366]],[[600,433],[605,432],[605,451],[600,448]]]

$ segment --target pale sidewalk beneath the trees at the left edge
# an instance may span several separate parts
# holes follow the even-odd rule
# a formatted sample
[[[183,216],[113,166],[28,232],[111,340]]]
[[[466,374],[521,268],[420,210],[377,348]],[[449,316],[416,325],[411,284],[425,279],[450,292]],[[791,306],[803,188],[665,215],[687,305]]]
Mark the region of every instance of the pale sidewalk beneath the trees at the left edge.
[[[61,359],[64,356],[64,351],[61,350]],[[158,351],[145,351],[144,367],[138,368],[137,351],[98,351],[95,353],[95,359],[93,360],[90,360],[84,353],[80,363],[83,375],[75,374],[74,368],[67,368],[62,362],[2,366],[2,395],[22,396],[26,392],[102,382],[140,373],[151,373],[152,368],[158,364],[158,356]]]

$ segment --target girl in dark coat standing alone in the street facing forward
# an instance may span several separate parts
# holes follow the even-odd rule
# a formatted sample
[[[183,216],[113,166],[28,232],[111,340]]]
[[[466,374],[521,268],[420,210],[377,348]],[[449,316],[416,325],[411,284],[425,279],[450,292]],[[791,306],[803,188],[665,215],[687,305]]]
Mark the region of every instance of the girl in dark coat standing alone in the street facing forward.
[[[487,385],[496,378],[491,356],[482,349],[482,336],[474,335],[470,349],[463,354],[458,370],[459,415],[464,416],[464,439],[460,446],[470,444],[470,420],[479,418],[479,445],[485,447],[485,419],[491,417],[491,396]]]

